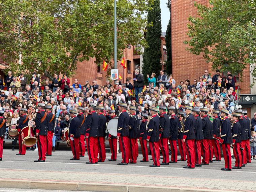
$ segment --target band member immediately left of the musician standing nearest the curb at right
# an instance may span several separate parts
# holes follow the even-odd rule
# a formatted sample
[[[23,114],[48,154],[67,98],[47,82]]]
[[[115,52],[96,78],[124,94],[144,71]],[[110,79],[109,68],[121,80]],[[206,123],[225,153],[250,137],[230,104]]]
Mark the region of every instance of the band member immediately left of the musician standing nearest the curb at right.
[[[220,139],[220,119],[218,115],[220,114],[220,111],[218,109],[213,110],[213,137],[215,138],[212,140],[213,143],[213,151],[215,155],[215,159],[213,161],[221,161],[221,150],[220,150],[220,144],[217,139]]]

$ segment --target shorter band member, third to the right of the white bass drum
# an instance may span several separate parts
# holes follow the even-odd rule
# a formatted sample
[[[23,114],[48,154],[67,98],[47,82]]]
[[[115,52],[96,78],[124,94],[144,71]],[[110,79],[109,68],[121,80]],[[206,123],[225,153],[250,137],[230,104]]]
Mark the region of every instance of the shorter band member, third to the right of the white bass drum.
[[[139,142],[141,146],[141,152],[143,159],[140,162],[149,162],[149,155],[148,155],[148,141],[147,141],[147,123],[148,123],[148,114],[142,113],[142,121],[139,127]]]

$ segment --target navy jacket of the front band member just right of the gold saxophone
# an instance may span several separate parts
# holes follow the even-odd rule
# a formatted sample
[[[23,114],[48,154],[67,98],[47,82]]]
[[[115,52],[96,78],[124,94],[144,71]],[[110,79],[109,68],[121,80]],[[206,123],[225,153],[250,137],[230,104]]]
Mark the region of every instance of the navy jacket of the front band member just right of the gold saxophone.
[[[196,135],[195,135],[195,118],[194,116],[190,113],[188,114],[186,121],[185,121],[185,128],[184,128],[184,135],[183,135],[183,139],[195,139]]]

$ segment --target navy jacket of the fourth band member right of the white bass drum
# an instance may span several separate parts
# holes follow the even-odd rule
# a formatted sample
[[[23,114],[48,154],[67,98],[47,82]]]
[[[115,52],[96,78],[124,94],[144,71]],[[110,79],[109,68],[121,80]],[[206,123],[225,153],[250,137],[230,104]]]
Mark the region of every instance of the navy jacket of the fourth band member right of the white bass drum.
[[[158,142],[159,141],[159,117],[157,115],[153,115],[148,124],[147,130],[147,139],[150,142]]]

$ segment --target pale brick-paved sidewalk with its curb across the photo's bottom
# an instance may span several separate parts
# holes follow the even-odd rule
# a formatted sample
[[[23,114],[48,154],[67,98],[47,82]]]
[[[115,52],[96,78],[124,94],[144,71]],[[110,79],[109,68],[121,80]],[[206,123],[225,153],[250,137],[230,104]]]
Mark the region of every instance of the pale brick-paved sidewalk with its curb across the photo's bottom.
[[[97,166],[97,165],[92,165]],[[157,168],[156,168],[157,169]],[[0,169],[0,187],[74,191],[255,191],[256,182],[159,175]],[[36,178],[36,179],[35,179]],[[59,179],[56,179],[59,178]],[[230,174],[230,178],[232,175]]]

